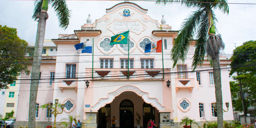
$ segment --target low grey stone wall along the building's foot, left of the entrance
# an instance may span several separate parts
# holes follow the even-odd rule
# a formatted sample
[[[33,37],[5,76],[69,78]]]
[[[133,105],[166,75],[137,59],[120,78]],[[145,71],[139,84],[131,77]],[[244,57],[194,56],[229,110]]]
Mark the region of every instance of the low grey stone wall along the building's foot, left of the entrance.
[[[56,127],[60,127],[60,128],[64,128],[66,127],[65,125],[61,124],[59,125],[60,122],[56,122]],[[54,122],[49,122],[48,121],[36,121],[36,128],[46,128],[48,125],[53,126]],[[70,123],[68,123],[68,127],[70,126]],[[14,124],[14,128],[19,128],[19,127],[23,127],[26,128],[28,127],[28,121],[16,121]]]

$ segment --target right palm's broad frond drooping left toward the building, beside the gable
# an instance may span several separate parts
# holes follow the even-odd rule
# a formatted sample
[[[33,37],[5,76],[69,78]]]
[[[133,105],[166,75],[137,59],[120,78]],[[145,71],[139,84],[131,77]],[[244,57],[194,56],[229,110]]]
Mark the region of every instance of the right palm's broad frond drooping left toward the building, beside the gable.
[[[171,58],[174,61],[173,68],[176,66],[177,62],[181,60],[185,62],[186,54],[189,49],[189,43],[193,40],[195,35],[196,26],[200,23],[202,13],[205,9],[199,9],[193,12],[182,24],[180,28],[180,33],[177,38],[174,39],[174,45],[171,50]]]

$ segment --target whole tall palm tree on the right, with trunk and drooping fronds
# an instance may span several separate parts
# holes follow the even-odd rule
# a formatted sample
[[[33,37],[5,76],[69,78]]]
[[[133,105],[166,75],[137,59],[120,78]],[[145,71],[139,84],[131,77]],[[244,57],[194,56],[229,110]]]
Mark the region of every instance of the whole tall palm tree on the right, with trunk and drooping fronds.
[[[156,4],[166,5],[168,3],[180,3],[187,7],[196,8],[182,24],[177,37],[174,39],[174,45],[171,50],[171,58],[174,61],[173,68],[178,61],[185,62],[189,45],[196,36],[195,53],[193,56],[193,71],[198,65],[202,65],[205,55],[210,65],[213,67],[213,76],[215,84],[215,97],[217,104],[218,128],[223,127],[222,113],[222,92],[219,51],[224,49],[224,43],[221,35],[215,35],[215,22],[217,19],[212,9],[219,9],[222,13],[229,13],[229,7],[226,0],[157,0]],[[197,33],[197,34],[196,34]]]

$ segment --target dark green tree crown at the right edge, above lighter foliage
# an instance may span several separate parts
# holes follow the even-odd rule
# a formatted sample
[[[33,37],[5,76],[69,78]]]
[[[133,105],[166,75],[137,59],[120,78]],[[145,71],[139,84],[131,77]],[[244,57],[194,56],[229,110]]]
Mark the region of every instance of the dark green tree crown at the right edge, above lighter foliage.
[[[233,55],[230,58],[232,60],[230,66],[230,75],[237,72],[238,74],[243,73],[256,73],[256,40],[250,40],[243,43],[243,45],[237,47],[233,50]],[[248,67],[239,67],[239,66],[248,66]]]

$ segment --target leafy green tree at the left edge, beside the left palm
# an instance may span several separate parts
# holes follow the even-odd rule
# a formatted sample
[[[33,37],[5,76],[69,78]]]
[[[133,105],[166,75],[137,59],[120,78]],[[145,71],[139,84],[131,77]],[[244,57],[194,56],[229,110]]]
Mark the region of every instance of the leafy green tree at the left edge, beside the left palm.
[[[25,72],[29,63],[25,57],[28,42],[17,36],[16,28],[0,25],[0,89],[8,89],[7,84]]]

